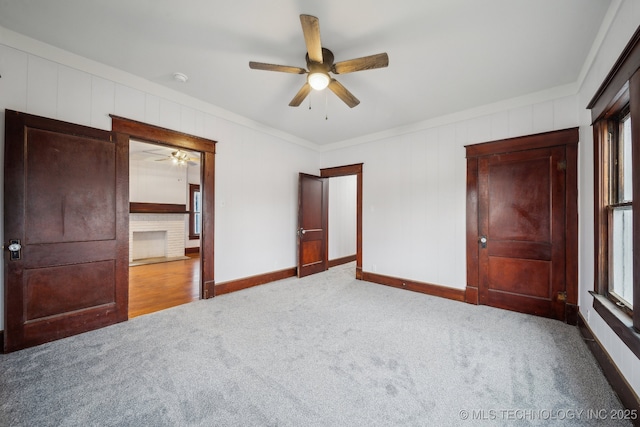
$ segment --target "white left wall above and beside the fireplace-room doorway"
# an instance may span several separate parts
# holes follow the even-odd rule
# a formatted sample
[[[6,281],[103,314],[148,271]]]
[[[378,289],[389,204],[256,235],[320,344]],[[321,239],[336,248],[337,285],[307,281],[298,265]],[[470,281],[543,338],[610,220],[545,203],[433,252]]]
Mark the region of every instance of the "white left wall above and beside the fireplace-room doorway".
[[[0,34],[0,156],[5,109],[106,130],[113,113],[216,140],[216,281],[296,265],[298,172],[318,174],[317,151],[178,92],[1,27]],[[0,279],[4,294],[4,267]]]

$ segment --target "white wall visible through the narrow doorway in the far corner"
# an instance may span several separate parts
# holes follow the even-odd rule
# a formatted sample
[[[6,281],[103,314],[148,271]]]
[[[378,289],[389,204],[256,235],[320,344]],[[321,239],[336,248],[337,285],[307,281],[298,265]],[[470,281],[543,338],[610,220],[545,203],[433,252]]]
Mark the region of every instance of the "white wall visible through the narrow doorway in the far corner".
[[[329,259],[356,254],[357,176],[329,178]]]

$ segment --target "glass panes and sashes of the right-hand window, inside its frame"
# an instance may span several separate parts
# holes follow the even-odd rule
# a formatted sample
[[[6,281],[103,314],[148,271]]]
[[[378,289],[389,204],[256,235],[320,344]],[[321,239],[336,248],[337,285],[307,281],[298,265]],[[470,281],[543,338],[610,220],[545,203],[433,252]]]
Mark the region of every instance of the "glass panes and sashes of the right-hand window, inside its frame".
[[[631,115],[628,106],[608,121],[604,152],[608,161],[607,237],[608,297],[623,311],[633,311],[633,201]]]

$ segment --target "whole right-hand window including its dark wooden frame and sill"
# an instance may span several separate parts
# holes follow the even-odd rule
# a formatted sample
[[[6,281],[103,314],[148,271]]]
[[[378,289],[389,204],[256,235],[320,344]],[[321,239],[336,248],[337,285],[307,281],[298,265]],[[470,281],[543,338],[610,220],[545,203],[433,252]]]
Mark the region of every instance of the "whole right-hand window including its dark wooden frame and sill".
[[[593,307],[640,357],[640,27],[587,106],[594,139]],[[635,233],[634,233],[635,224]]]

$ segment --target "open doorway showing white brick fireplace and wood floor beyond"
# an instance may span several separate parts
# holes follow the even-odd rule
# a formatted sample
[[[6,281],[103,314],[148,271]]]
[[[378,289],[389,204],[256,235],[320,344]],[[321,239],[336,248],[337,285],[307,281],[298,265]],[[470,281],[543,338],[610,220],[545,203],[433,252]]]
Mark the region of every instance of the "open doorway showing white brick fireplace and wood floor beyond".
[[[200,298],[200,153],[129,141],[129,318]]]

